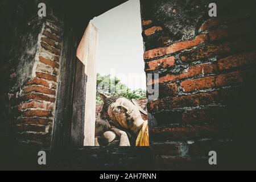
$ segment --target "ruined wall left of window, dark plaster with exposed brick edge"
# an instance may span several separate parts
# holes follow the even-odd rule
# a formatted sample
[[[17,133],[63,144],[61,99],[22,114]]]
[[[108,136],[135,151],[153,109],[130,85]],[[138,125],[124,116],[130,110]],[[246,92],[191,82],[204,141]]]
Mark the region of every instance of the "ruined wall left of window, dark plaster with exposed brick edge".
[[[38,16],[41,2],[47,7],[43,18]],[[5,76],[1,82],[6,83],[1,89],[1,129],[6,130],[5,142],[13,138],[15,148],[24,144],[48,148],[63,25],[48,1],[20,1],[15,7],[7,1],[1,4],[1,13],[9,16],[1,30],[5,32],[1,44],[1,74]]]

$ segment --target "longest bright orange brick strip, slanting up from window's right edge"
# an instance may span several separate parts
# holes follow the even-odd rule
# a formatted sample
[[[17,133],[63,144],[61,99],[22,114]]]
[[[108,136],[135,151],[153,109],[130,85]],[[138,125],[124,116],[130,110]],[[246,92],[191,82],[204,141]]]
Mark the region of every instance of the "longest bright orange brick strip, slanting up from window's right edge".
[[[199,44],[204,43],[206,40],[207,40],[207,35],[202,34],[202,35],[196,36],[196,38],[193,40],[177,42],[177,43],[171,44],[168,47],[151,49],[149,51],[144,52],[144,60],[168,55],[177,51],[181,51],[183,49],[188,49],[194,46],[198,46]]]

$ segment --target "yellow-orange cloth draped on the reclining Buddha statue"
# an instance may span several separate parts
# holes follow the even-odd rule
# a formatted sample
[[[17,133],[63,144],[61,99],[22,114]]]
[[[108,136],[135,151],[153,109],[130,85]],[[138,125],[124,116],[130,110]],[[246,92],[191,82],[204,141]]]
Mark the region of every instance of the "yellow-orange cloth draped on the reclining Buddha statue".
[[[141,131],[139,131],[138,137],[136,139],[136,146],[149,146],[147,121],[142,124]]]

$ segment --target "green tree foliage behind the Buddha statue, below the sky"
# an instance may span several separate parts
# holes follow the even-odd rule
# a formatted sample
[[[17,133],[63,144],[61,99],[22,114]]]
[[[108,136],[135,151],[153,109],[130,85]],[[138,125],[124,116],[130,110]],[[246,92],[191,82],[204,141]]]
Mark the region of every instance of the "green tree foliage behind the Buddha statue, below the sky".
[[[131,90],[117,77],[112,77],[110,75],[101,76],[100,73],[97,73],[97,89],[107,94],[108,96],[122,96],[128,98],[129,100],[132,98],[135,100],[146,98],[145,90]],[[103,101],[101,100],[98,93],[96,94],[96,104],[103,104]]]

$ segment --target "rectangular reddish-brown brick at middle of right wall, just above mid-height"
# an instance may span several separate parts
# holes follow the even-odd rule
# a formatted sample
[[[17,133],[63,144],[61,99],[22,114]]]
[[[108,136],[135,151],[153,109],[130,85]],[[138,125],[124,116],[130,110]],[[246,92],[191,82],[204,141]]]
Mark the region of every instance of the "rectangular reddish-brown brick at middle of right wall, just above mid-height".
[[[183,92],[191,92],[195,90],[213,88],[215,86],[214,81],[214,76],[208,76],[203,78],[196,78],[193,80],[185,80],[180,83],[180,86],[183,88]]]

